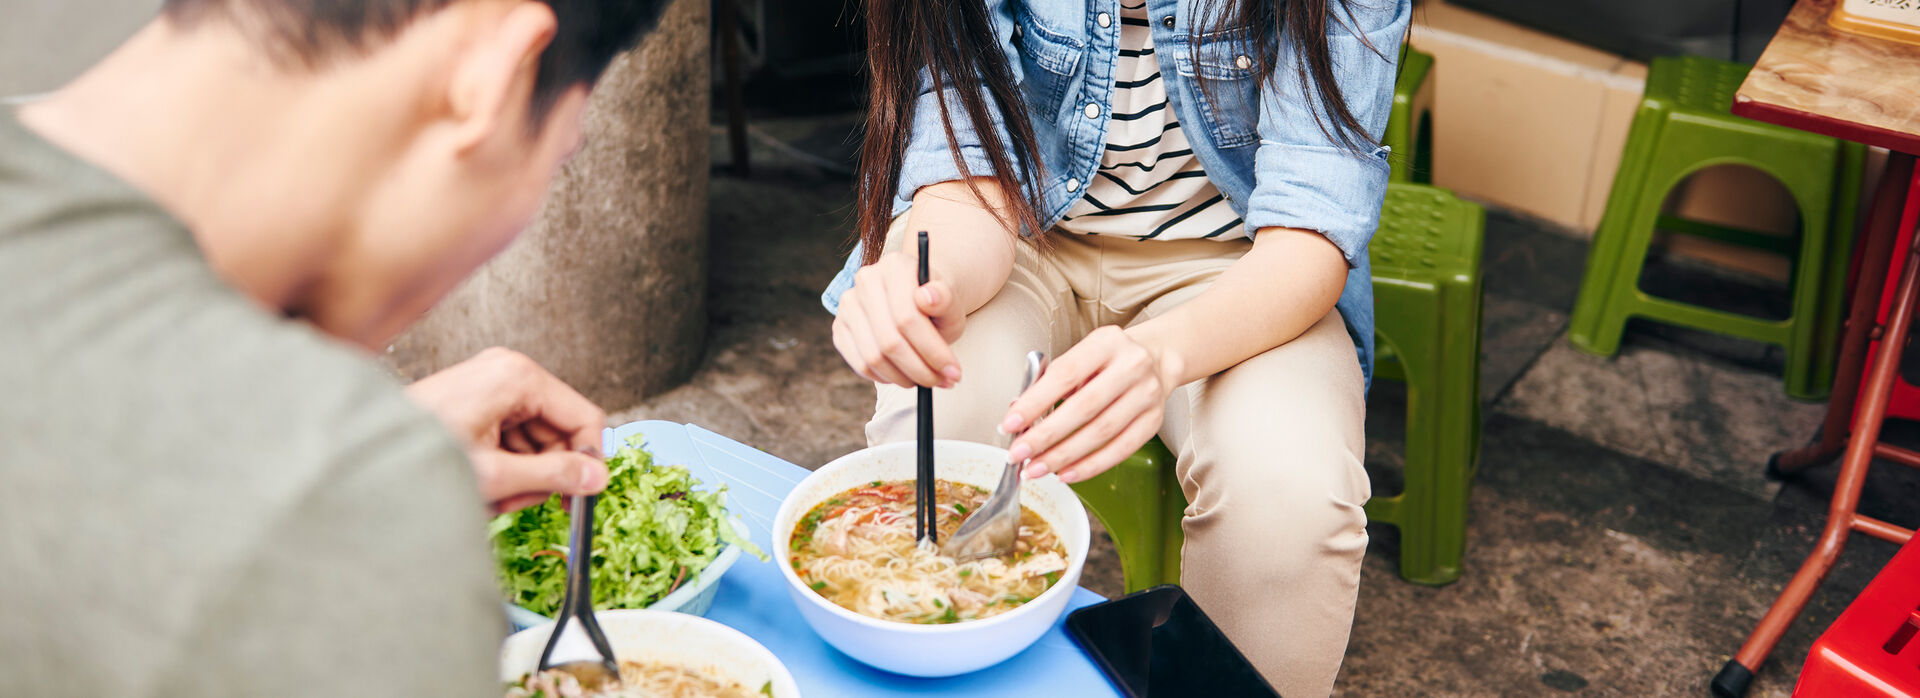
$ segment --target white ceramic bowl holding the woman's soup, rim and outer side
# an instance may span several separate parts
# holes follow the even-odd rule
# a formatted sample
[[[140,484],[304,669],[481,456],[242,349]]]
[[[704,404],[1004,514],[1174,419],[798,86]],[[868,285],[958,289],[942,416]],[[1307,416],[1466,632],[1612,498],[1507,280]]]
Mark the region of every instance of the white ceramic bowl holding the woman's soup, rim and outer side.
[[[847,656],[874,667],[914,677],[950,677],[1000,663],[1025,650],[1060,619],[1079,587],[1087,562],[1087,510],[1060,477],[1046,476],[1020,487],[1020,502],[1052,524],[1068,547],[1068,571],[1037,598],[1000,616],[948,625],[883,621],[845,610],[801,583],[793,573],[789,539],[793,524],[816,504],[876,479],[912,479],[912,441],[849,453],[803,479],[774,516],[774,554],[787,579],[801,617]],[[935,441],[939,477],[993,489],[1006,468],[1006,451],[983,443]]]

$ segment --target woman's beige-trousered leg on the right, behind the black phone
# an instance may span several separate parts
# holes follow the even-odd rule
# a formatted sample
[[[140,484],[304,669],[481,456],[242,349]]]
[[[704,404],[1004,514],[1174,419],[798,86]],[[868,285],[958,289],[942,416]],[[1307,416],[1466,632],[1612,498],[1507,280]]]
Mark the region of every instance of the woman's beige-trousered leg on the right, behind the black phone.
[[[1187,495],[1181,585],[1281,690],[1325,696],[1340,669],[1371,485],[1365,395],[1338,313],[1167,401]]]

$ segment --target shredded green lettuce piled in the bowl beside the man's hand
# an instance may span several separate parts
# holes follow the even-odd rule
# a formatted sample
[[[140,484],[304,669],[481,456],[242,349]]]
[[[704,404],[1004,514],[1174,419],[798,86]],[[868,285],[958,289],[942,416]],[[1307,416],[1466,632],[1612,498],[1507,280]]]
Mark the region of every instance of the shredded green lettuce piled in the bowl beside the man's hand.
[[[766,552],[726,520],[726,485],[697,489],[682,466],[657,466],[634,435],[607,458],[607,491],[593,506],[593,608],[645,608],[691,583],[728,545]],[[566,589],[566,500],[547,499],[490,525],[507,600],[541,616]]]

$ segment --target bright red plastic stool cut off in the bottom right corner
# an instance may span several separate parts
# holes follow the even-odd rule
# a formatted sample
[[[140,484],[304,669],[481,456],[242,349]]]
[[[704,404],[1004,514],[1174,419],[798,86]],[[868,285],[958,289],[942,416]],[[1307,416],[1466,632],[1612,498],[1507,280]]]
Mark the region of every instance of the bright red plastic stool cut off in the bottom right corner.
[[[1812,642],[1795,696],[1920,698],[1920,539]]]

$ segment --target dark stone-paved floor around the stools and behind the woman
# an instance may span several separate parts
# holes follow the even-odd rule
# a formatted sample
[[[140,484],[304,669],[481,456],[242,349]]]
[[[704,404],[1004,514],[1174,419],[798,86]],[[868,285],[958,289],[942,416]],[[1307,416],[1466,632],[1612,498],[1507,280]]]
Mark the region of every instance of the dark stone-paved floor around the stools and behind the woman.
[[[833,353],[818,305],[849,244],[851,182],[829,169],[847,159],[851,123],[756,119],[755,176],[716,165],[708,357],[687,385],[618,420],[699,422],[808,468],[862,445],[872,389]],[[1782,395],[1778,349],[1634,326],[1620,357],[1572,351],[1563,330],[1586,242],[1501,211],[1486,236],[1490,408],[1465,575],[1400,581],[1398,535],[1375,525],[1336,694],[1701,696],[1822,525],[1832,466],[1786,485],[1761,476],[1768,453],[1812,435],[1822,407]],[[1645,286],[1759,309],[1780,297],[1670,265]],[[1404,391],[1382,382],[1369,405],[1367,466],[1375,491],[1392,493]],[[1862,510],[1912,525],[1916,495],[1920,476],[1880,468]],[[1753,696],[1791,690],[1807,646],[1893,550],[1853,537]],[[1104,539],[1083,583],[1121,589]]]

